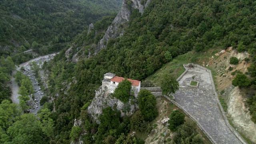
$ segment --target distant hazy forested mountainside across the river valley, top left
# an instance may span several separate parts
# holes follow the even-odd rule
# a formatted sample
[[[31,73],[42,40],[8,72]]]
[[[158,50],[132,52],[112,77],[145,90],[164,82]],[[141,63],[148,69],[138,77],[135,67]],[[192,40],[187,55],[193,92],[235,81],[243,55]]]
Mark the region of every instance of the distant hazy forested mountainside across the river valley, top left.
[[[59,51],[89,24],[118,12],[121,4],[121,0],[2,0],[0,55],[30,48],[40,54]]]

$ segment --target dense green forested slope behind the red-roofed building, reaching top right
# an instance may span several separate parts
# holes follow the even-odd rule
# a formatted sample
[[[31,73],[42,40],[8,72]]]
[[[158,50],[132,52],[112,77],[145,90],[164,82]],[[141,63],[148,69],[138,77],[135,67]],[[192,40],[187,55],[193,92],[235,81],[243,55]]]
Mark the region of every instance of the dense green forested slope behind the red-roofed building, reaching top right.
[[[199,52],[212,47],[234,46],[240,52],[251,52],[256,44],[255,8],[253,0],[152,0],[142,15],[133,10],[124,35],[110,40],[107,48],[98,54],[74,64],[67,63],[64,52],[61,52],[52,62],[45,64],[54,74],[50,77],[51,93],[59,95],[52,118],[56,122],[63,118],[63,114],[68,120],[82,118],[87,122],[85,126],[90,125],[85,129],[88,132],[84,136],[85,142],[96,142],[91,136],[100,126],[84,116],[103,74],[113,72],[118,76],[143,80],[164,63],[190,50]],[[94,43],[87,32],[77,38],[74,41]],[[65,83],[69,84],[68,94],[65,94],[65,88],[59,89]],[[72,121],[67,123],[65,129],[56,127],[58,136],[63,137],[63,133],[70,131]]]

